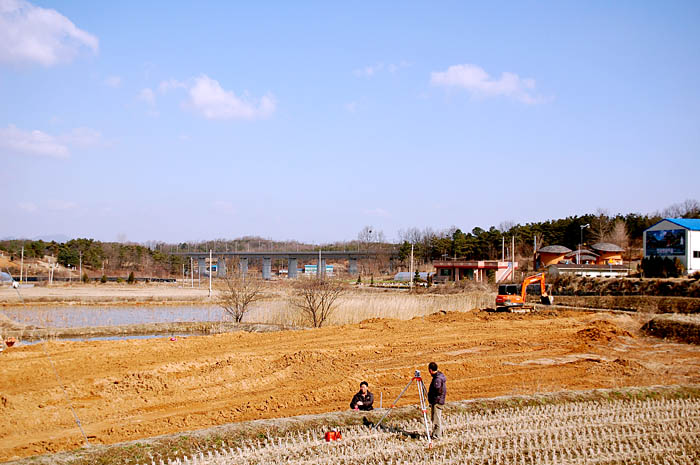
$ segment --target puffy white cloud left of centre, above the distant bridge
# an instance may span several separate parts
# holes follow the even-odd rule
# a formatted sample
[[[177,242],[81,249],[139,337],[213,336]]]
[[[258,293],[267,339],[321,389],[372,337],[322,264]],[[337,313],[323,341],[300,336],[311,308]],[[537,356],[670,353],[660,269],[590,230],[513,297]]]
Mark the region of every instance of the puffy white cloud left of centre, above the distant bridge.
[[[272,95],[263,96],[259,102],[246,97],[224,90],[219,81],[202,74],[190,87],[185,105],[206,119],[257,119],[274,113],[276,102]]]

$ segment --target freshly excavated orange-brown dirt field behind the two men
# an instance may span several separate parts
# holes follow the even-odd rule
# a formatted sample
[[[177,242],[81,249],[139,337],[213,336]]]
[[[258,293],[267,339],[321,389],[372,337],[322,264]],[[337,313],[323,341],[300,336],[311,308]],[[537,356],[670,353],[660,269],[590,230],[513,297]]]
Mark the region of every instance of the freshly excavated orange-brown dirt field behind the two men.
[[[648,319],[648,318],[647,318]],[[0,354],[0,460],[93,443],[379,403],[434,360],[448,400],[700,382],[700,348],[643,336],[637,315],[466,312],[276,333],[50,342]],[[417,402],[414,389],[400,404]]]

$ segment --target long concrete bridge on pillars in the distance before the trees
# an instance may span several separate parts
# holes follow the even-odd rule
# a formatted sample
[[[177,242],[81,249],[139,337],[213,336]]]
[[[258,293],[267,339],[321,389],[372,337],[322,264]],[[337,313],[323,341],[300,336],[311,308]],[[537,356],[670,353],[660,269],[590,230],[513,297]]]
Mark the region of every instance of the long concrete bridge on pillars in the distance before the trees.
[[[207,271],[206,260],[209,258],[209,252],[180,252],[176,255],[184,255],[197,260],[197,268],[200,275],[204,275]],[[250,260],[262,259],[262,277],[270,279],[272,275],[272,259],[287,260],[287,269],[289,278],[297,277],[297,264],[300,259],[315,260],[317,263],[316,274],[321,276],[326,271],[326,259],[347,259],[348,273],[351,275],[357,274],[357,261],[377,257],[379,253],[368,251],[297,251],[297,252],[211,252],[212,261],[216,260],[216,276],[225,277],[227,272],[226,261],[232,258],[238,258],[238,266],[240,272],[245,274],[248,272],[248,262]]]

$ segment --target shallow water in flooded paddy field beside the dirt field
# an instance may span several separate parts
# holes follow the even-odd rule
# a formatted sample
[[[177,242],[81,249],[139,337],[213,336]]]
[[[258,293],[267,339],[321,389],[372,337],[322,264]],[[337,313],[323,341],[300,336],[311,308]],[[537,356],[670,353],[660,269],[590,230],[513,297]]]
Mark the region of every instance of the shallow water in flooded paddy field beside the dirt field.
[[[144,323],[222,321],[216,305],[151,306],[40,306],[3,308],[0,314],[23,325],[44,328],[114,326]]]

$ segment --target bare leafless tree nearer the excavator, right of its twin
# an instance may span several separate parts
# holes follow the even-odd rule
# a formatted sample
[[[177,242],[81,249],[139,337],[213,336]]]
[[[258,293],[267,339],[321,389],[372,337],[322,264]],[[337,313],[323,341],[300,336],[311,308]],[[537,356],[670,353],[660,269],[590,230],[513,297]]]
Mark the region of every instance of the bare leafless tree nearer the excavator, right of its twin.
[[[294,294],[289,302],[299,310],[305,321],[314,328],[320,328],[333,314],[338,297],[346,290],[342,281],[300,281],[294,287]]]

